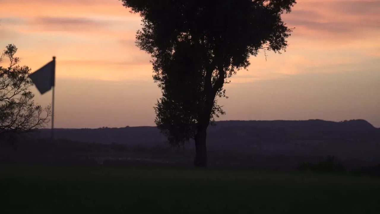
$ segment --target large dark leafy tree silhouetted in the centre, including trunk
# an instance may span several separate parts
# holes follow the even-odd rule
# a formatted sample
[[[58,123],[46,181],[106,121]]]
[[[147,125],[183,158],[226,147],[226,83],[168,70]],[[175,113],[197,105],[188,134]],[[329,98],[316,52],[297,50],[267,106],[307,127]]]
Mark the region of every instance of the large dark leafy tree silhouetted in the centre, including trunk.
[[[195,139],[196,166],[207,165],[206,130],[223,115],[223,85],[260,50],[279,53],[291,34],[281,15],[296,0],[122,0],[142,17],[136,44],[152,56],[162,90],[155,123],[179,145]]]

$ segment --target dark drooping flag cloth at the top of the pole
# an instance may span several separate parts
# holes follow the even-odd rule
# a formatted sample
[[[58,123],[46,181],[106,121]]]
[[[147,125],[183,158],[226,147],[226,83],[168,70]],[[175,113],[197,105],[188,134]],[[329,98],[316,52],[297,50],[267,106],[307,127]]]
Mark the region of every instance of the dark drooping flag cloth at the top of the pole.
[[[55,85],[55,57],[40,69],[29,74],[29,78],[41,94],[50,91]]]

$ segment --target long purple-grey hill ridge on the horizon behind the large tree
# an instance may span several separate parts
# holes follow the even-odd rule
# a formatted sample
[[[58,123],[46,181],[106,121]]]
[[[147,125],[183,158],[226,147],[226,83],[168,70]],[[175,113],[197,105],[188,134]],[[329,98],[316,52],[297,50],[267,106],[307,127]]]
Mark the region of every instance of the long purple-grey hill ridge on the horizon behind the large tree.
[[[273,120],[273,121],[218,121],[208,129],[207,141],[210,148],[237,147],[237,144],[260,142],[284,143],[297,140],[377,140],[380,129],[366,120],[341,122],[324,120]],[[35,133],[37,138],[46,138],[50,129]],[[153,126],[98,129],[55,129],[57,139],[80,142],[112,142],[144,147],[166,146],[166,137]],[[191,147],[191,145],[190,145]],[[227,149],[226,148],[226,149]]]

